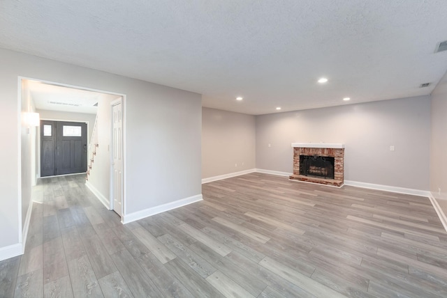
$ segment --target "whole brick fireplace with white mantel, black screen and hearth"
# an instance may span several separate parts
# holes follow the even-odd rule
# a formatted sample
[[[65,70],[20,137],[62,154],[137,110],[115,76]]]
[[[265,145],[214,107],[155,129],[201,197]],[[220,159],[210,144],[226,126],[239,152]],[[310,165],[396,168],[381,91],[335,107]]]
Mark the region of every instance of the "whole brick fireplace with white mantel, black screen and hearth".
[[[343,185],[343,144],[292,143],[292,147],[293,175],[289,177],[290,180],[313,182],[336,187]]]

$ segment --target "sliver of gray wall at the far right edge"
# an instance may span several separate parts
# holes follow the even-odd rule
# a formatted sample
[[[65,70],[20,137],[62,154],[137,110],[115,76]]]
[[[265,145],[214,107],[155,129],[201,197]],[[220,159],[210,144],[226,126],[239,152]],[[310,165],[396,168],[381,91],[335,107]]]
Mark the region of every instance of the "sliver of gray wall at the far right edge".
[[[447,214],[447,74],[432,92],[430,191]]]

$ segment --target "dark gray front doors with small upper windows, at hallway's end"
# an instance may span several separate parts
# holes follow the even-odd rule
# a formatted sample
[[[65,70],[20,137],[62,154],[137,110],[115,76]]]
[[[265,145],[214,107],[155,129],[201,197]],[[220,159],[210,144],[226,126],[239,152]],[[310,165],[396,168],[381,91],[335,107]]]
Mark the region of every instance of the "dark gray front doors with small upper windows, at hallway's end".
[[[48,125],[51,125],[51,133]],[[87,171],[87,124],[43,120],[41,177],[85,171]]]

